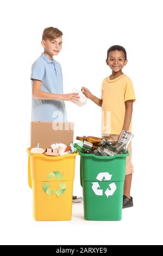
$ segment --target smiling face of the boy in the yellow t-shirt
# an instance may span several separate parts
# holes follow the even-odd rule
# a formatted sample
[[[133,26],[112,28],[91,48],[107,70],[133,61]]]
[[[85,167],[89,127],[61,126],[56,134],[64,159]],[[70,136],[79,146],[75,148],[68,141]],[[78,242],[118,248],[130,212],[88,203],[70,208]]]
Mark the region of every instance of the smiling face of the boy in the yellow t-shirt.
[[[127,64],[127,59],[125,60],[124,52],[118,50],[109,52],[108,59],[106,59],[106,64],[110,66],[110,69],[112,69],[114,72],[122,70]]]

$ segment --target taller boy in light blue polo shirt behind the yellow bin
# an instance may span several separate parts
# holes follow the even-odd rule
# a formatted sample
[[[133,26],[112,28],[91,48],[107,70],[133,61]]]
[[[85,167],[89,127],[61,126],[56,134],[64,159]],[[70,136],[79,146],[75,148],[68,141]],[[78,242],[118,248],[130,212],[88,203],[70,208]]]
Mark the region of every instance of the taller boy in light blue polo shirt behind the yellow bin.
[[[57,56],[62,47],[62,32],[58,28],[45,28],[41,44],[44,48],[41,56],[32,65],[32,121],[66,122],[65,100],[76,101],[78,93],[63,94],[61,65],[53,56]],[[73,197],[80,202],[82,197]]]

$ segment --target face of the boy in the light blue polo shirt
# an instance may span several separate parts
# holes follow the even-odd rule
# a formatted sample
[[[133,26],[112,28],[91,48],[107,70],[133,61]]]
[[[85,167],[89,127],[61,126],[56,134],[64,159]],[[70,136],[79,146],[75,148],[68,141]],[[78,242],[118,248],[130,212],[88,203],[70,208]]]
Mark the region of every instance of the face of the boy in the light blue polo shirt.
[[[41,44],[44,48],[44,53],[48,58],[52,58],[54,55],[58,55],[62,48],[62,36],[59,38],[53,39],[50,41],[49,39],[42,40]]]

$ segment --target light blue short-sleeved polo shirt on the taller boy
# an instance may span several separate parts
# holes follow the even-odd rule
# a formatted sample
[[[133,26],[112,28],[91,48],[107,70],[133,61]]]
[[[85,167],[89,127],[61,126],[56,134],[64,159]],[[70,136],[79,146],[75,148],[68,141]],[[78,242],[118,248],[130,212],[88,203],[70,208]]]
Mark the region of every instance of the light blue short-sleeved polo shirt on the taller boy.
[[[50,60],[42,53],[32,65],[30,79],[42,81],[42,92],[63,94],[61,65],[54,58]],[[32,121],[66,122],[65,102],[61,100],[33,99],[32,97]]]

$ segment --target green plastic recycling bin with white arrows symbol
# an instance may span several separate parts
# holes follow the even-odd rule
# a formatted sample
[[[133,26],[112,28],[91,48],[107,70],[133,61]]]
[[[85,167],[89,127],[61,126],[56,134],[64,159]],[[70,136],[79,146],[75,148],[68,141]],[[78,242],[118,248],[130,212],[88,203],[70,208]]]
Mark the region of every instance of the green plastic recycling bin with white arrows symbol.
[[[129,152],[106,157],[79,154],[85,220],[120,221],[126,157]]]

